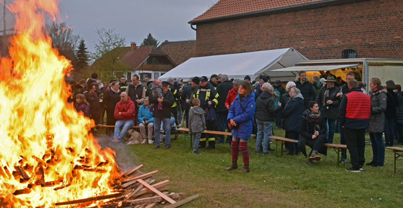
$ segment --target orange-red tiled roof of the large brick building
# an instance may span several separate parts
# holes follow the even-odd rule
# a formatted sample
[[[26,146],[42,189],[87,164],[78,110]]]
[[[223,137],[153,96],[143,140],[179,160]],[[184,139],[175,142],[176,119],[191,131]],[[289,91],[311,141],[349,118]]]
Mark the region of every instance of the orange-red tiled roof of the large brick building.
[[[289,8],[307,3],[328,2],[327,0],[220,0],[202,15],[189,23],[220,17],[248,14],[258,11]]]

